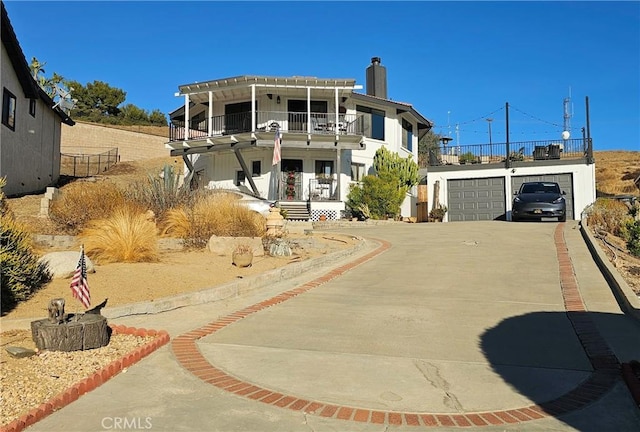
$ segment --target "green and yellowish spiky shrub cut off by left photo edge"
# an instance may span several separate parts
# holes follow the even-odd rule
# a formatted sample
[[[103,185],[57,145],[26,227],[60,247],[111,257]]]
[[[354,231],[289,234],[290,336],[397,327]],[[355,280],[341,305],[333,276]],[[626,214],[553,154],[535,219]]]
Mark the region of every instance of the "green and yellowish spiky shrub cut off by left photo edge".
[[[0,309],[11,310],[51,280],[45,263],[33,253],[29,233],[11,214],[0,179]]]

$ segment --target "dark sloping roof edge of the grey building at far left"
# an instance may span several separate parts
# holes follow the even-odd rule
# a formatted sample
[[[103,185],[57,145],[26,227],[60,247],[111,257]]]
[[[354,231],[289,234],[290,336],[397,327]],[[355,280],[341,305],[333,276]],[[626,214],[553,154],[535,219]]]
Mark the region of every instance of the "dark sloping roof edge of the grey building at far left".
[[[65,124],[73,126],[75,122],[71,117],[69,117],[60,107],[54,108],[55,102],[53,99],[49,97],[49,95],[38,85],[31,75],[31,69],[29,68],[27,59],[22,52],[22,48],[20,48],[20,43],[18,42],[18,37],[16,36],[15,31],[13,30],[11,21],[9,21],[9,15],[7,14],[7,9],[4,7],[4,2],[0,1],[0,5],[2,5],[2,23],[0,24],[2,44],[9,54],[11,65],[16,71],[24,96],[28,99],[42,99],[49,108],[58,114]]]

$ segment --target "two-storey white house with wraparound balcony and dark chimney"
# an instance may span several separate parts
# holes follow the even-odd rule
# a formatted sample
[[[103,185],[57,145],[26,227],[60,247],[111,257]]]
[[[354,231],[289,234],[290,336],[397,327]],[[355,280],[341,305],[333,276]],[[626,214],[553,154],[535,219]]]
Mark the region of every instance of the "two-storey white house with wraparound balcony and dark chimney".
[[[237,76],[179,86],[170,114],[172,156],[192,187],[238,189],[280,201],[290,218],[339,219],[349,185],[372,173],[384,146],[417,161],[432,122],[387,98],[386,68],[374,57],[366,94],[354,79]],[[274,147],[280,146],[274,162]],[[415,212],[415,191],[402,206]]]

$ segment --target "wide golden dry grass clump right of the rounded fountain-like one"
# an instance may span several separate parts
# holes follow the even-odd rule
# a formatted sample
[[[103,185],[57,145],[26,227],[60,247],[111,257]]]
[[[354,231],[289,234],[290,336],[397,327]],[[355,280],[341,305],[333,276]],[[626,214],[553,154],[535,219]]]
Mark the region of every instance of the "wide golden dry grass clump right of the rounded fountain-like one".
[[[169,210],[161,226],[163,234],[181,237],[189,247],[203,248],[212,235],[262,237],[266,220],[234,196],[210,193],[198,197],[192,208]]]

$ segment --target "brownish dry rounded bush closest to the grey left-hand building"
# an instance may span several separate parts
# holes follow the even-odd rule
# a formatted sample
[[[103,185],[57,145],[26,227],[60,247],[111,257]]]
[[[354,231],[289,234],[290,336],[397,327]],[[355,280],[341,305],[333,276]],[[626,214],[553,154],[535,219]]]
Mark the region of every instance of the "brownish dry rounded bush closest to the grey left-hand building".
[[[107,218],[114,210],[132,205],[115,185],[74,182],[51,202],[49,217],[64,232],[75,235],[90,220]]]

